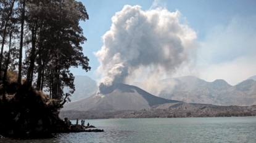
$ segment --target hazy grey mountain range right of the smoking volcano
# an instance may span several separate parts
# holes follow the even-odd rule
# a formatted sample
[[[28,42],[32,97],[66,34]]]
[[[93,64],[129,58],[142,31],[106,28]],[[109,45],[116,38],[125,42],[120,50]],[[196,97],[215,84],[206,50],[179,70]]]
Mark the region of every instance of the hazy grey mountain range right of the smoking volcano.
[[[249,79],[231,86],[221,79],[206,82],[192,76],[178,77],[173,90],[163,90],[159,96],[191,103],[250,106],[256,104],[256,81]]]

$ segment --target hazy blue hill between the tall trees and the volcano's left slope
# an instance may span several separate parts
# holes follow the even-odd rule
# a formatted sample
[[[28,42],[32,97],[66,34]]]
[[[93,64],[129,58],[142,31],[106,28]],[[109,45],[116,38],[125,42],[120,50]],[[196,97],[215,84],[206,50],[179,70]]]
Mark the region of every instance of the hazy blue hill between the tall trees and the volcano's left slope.
[[[88,96],[93,95],[93,93],[96,93],[98,90],[96,81],[86,75],[76,75],[74,84],[75,92],[70,97],[71,101],[85,99]],[[64,88],[64,92],[67,91],[67,88]]]

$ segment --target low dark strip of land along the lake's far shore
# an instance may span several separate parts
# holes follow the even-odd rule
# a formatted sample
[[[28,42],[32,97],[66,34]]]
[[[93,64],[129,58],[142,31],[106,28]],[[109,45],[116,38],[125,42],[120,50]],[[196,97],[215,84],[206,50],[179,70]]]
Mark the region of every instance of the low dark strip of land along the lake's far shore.
[[[188,117],[246,117],[256,116],[256,105],[254,106],[214,106],[202,104],[178,103],[167,108],[159,105],[152,109],[142,110],[90,110],[75,111],[61,110],[59,117],[69,119],[84,118],[188,118]]]

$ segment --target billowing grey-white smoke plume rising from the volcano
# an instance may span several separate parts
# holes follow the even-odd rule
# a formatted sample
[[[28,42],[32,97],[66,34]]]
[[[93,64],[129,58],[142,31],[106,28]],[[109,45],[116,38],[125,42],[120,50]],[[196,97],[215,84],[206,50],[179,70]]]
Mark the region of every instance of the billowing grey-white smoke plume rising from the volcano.
[[[186,63],[196,46],[196,32],[181,24],[180,17],[178,10],[143,11],[128,5],[117,12],[102,37],[104,45],[95,53],[101,64],[97,68],[101,86],[140,81],[147,83],[144,88],[159,88],[157,81]]]

